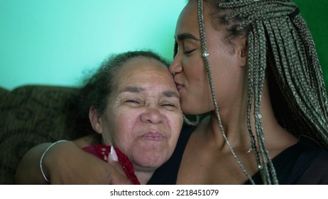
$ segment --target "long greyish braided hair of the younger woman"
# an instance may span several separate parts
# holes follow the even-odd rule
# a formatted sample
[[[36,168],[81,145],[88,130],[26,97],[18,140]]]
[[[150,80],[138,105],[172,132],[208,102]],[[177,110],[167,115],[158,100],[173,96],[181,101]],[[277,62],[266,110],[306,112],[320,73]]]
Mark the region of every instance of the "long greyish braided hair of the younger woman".
[[[191,0],[190,0],[191,1]],[[328,100],[315,43],[299,9],[290,0],[204,0],[211,8],[212,25],[224,28],[226,41],[247,36],[247,125],[251,147],[264,184],[278,184],[264,139],[261,95],[268,79],[278,123],[296,137],[304,136],[328,149]],[[204,33],[203,0],[198,0],[199,33],[219,127],[239,166],[251,176],[226,139],[214,94]],[[175,47],[175,52],[176,52]],[[254,99],[252,103],[252,99]],[[254,112],[251,113],[253,105]],[[255,134],[251,115],[255,116]],[[258,146],[258,149],[257,149]]]

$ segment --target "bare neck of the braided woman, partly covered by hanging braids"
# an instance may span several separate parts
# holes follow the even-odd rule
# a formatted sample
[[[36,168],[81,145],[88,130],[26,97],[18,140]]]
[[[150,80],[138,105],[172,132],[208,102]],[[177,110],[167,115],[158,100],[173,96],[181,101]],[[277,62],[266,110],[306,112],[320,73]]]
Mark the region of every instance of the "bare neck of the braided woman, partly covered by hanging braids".
[[[247,100],[246,95],[241,97],[240,100],[234,101],[231,106],[225,109],[220,109],[220,119],[222,127],[224,129],[224,134],[233,148],[240,147],[240,149],[248,149],[251,145],[251,139],[248,133],[247,127]],[[251,108],[251,129],[256,136],[255,131],[255,116],[253,114],[253,104]],[[223,107],[222,107],[223,108]],[[262,126],[264,129],[264,134],[266,137],[270,137],[269,140],[278,135],[278,131],[283,131],[282,127],[276,121],[273,109],[270,103],[270,95],[268,92],[268,85],[265,83],[263,87],[262,100],[261,100],[261,115],[262,115]],[[222,136],[222,130],[219,127],[219,122],[217,119],[217,114],[212,112],[210,119],[207,121],[206,133],[209,135],[210,141],[216,141],[219,146],[224,148],[226,146],[226,141]]]

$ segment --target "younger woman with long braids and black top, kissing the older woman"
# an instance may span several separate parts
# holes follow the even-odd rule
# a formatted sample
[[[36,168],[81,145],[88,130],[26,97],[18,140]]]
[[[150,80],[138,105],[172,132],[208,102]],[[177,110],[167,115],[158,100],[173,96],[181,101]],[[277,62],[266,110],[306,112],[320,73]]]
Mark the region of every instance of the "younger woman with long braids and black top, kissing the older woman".
[[[175,40],[182,112],[202,119],[149,184],[328,184],[327,93],[293,2],[190,0]]]

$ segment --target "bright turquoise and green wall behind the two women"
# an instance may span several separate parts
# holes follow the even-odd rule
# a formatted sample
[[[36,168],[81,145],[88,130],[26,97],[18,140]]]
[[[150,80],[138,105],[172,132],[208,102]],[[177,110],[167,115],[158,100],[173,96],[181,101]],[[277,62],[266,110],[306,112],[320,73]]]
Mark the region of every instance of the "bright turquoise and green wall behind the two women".
[[[295,0],[328,82],[327,0]],[[0,87],[80,85],[110,53],[150,48],[172,60],[186,0],[0,0]]]

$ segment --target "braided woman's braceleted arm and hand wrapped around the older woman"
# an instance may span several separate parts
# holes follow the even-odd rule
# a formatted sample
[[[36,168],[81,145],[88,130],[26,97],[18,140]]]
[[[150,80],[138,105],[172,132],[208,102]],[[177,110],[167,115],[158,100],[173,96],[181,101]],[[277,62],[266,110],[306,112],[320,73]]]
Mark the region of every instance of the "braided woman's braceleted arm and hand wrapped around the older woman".
[[[45,154],[43,170],[52,184],[131,184],[119,163],[106,163],[80,146],[86,138],[55,144]],[[40,157],[50,144],[40,144],[26,153],[16,171],[16,183],[46,184],[40,172]]]

